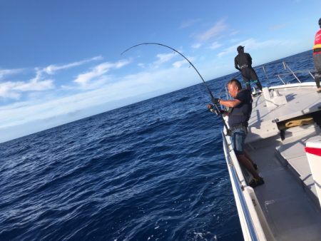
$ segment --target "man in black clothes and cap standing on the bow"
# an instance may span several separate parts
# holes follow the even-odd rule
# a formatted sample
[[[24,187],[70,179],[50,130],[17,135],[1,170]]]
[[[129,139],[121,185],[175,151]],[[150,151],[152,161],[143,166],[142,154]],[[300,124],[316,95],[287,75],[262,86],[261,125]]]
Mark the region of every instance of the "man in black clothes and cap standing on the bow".
[[[251,90],[250,81],[258,86],[262,91],[262,85],[258,79],[258,75],[252,68],[252,58],[249,53],[244,53],[244,46],[238,46],[238,55],[234,59],[235,68],[242,73],[245,86],[248,90]]]

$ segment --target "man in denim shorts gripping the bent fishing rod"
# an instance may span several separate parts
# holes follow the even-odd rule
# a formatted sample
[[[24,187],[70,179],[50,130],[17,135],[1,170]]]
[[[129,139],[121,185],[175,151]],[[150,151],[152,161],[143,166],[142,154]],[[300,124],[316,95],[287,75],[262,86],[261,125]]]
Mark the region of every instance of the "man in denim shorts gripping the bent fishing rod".
[[[219,98],[213,98],[214,104],[220,103],[222,106],[232,108],[232,111],[228,113],[228,125],[231,130],[232,145],[236,157],[239,163],[245,166],[245,168],[253,175],[253,179],[250,180],[250,185],[255,188],[258,185],[263,185],[263,178],[258,175],[256,171],[257,165],[250,158],[250,155],[245,151],[245,138],[248,134],[248,120],[252,113],[252,96],[248,89],[242,89],[240,81],[232,79],[228,81],[228,93],[232,96],[233,100],[222,100]]]

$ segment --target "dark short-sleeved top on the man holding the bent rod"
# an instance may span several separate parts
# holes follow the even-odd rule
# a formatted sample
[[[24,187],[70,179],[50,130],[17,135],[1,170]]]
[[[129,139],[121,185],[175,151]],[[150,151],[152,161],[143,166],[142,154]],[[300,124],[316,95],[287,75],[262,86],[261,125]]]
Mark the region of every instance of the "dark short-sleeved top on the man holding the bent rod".
[[[240,104],[232,108],[232,111],[228,115],[228,125],[230,125],[230,128],[237,125],[248,126],[253,102],[251,93],[248,89],[243,89],[235,96],[235,99],[238,99]]]

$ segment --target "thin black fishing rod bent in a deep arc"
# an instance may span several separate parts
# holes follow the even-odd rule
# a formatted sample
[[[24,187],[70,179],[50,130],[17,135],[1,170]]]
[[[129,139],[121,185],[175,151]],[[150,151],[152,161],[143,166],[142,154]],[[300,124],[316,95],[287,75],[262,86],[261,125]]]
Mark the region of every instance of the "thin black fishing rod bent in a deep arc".
[[[197,68],[195,68],[195,66],[193,65],[193,63],[190,62],[190,60],[189,60],[188,58],[186,58],[186,57],[183,55],[183,53],[180,53],[180,52],[177,51],[175,48],[172,48],[172,47],[170,47],[170,46],[167,46],[167,45],[165,45],[165,44],[163,44],[163,43],[138,43],[138,44],[136,44],[136,45],[134,45],[134,46],[131,46],[130,48],[127,48],[125,51],[123,51],[123,52],[121,53],[121,55],[123,55],[123,53],[126,53],[127,51],[131,50],[132,48],[136,48],[136,47],[141,46],[141,45],[159,45],[159,46],[163,46],[163,47],[165,47],[165,48],[170,48],[171,50],[175,51],[175,53],[178,53],[180,56],[182,56],[183,58],[185,58],[185,60],[188,61],[188,63],[190,64],[190,66],[192,66],[192,67],[194,68],[194,70],[196,71],[196,73],[198,73],[198,76],[200,76],[200,79],[203,81],[204,86],[205,86],[205,88],[206,88],[206,91],[208,91],[208,94],[210,95],[210,100],[213,102],[213,99],[214,99],[213,93],[210,91],[210,88],[208,88],[208,85],[205,83],[204,78],[200,75],[200,72],[198,72]],[[220,114],[220,108],[218,108],[218,104],[217,104],[217,103],[214,103],[214,102],[213,102],[213,104],[214,104],[214,106],[215,106],[215,108],[216,108],[216,111],[217,111],[217,112],[215,111],[215,113],[217,113],[217,115],[220,116],[220,118],[221,118],[221,120],[223,121],[223,124],[224,124],[224,126],[225,126],[225,128],[226,128],[227,133],[229,133],[230,130],[229,130],[229,128],[228,128],[228,125],[226,125],[225,120],[224,120],[222,114]]]

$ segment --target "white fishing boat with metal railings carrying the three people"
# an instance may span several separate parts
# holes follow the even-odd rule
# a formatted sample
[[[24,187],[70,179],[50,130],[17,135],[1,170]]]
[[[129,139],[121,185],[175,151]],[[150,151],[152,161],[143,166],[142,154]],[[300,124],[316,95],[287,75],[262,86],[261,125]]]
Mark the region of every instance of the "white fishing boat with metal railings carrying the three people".
[[[321,93],[282,64],[297,83],[278,75],[280,85],[253,93],[245,140],[265,184],[248,185],[226,126],[225,159],[244,240],[321,240]]]

